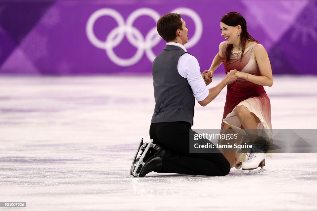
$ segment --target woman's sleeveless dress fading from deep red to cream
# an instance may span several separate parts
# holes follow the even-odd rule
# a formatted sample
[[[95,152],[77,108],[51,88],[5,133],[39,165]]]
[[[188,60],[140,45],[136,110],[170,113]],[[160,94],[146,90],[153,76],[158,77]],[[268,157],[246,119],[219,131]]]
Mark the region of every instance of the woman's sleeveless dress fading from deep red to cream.
[[[261,75],[259,67],[254,59],[253,50],[256,44],[258,43],[253,43],[244,50],[242,61],[240,60],[241,51],[238,52],[232,50],[230,61],[227,63],[224,58],[224,52],[227,47],[226,44],[222,53],[222,61],[226,74],[230,70],[236,69],[243,73]],[[234,112],[236,106],[239,105],[244,105],[250,112],[254,113],[260,120],[260,123],[257,124],[257,128],[269,129],[266,131],[270,131],[271,134],[268,134],[268,136],[272,137],[271,104],[263,86],[240,78],[232,84],[229,84],[227,86],[227,97],[224,105],[222,126],[223,123],[226,123],[234,129],[239,129],[241,127],[241,123]],[[275,153],[267,153],[267,156],[271,157],[274,154]],[[246,159],[245,155],[244,159]],[[241,161],[243,162],[244,159],[241,159]]]

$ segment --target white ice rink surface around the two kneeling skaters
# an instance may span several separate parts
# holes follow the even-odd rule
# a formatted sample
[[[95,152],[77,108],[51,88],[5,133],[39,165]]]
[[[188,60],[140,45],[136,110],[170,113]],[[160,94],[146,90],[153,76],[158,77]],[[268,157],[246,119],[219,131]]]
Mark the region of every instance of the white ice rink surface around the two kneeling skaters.
[[[317,77],[266,90],[273,128],[316,128]],[[193,128],[220,127],[225,93],[196,104]],[[317,210],[316,153],[267,158],[252,176],[130,176],[153,109],[151,77],[1,77],[0,201],[27,207],[0,210]]]

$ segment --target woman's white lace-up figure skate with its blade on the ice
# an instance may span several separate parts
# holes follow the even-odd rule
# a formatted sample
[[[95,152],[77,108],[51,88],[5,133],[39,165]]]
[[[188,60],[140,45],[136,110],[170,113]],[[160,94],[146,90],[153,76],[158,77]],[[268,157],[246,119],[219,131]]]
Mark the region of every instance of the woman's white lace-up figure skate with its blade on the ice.
[[[250,153],[247,160],[242,163],[242,170],[249,170],[246,173],[243,172],[243,175],[250,175],[263,172],[265,171],[265,169],[263,169],[264,166],[265,153]],[[256,169],[258,167],[261,167],[261,169],[257,171],[252,171],[253,169]]]

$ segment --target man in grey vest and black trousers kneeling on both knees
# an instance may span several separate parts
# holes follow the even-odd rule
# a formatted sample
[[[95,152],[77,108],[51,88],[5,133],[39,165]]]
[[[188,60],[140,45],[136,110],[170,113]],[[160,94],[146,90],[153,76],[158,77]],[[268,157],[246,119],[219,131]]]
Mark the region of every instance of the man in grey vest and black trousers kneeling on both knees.
[[[225,176],[230,171],[230,163],[223,154],[220,151],[190,153],[189,133],[193,125],[195,98],[200,105],[206,106],[227,84],[236,80],[236,70],[208,90],[197,59],[184,47],[188,29],[181,15],[168,13],[161,16],[157,30],[167,43],[152,64],[156,103],[150,126],[153,141],[144,147],[136,169],[132,167],[130,173],[140,177],[151,171]]]

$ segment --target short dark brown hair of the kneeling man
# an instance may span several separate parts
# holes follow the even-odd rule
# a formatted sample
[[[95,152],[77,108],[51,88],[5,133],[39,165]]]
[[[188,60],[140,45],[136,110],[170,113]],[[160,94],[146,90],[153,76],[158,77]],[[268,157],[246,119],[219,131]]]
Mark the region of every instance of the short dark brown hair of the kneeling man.
[[[183,30],[183,23],[180,14],[167,13],[159,18],[157,30],[159,35],[166,41],[172,41],[176,38],[176,30]]]

